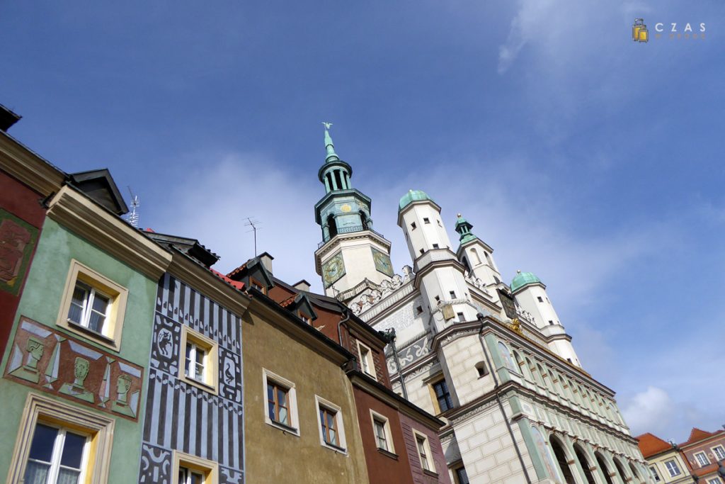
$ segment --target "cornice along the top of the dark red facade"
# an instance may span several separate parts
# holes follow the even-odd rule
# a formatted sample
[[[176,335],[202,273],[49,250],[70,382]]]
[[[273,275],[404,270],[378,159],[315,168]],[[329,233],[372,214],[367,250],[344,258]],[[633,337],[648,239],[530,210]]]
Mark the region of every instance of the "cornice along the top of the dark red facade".
[[[65,181],[65,173],[4,133],[0,133],[0,170],[30,186],[43,197],[57,192]]]

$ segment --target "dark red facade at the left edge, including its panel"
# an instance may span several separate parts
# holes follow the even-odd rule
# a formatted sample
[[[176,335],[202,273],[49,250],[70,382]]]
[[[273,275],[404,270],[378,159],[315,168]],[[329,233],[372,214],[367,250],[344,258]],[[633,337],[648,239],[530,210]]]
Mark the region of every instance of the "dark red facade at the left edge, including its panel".
[[[0,171],[0,354],[4,353],[46,210],[43,195]]]

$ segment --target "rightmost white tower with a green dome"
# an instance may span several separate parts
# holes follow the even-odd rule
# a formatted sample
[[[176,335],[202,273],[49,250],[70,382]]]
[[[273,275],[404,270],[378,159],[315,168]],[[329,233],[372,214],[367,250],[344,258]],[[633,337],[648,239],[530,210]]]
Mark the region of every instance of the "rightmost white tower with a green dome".
[[[511,281],[511,292],[516,303],[531,315],[531,321],[547,337],[550,350],[569,363],[581,367],[579,357],[571,344],[571,336],[566,334],[561,325],[541,279],[531,272],[517,271]]]

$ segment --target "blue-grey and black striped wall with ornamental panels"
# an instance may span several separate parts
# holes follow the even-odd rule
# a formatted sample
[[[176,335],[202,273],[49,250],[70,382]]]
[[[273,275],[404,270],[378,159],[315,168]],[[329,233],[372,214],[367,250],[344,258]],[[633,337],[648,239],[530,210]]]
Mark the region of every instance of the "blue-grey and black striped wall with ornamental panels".
[[[179,380],[181,329],[218,343],[219,394]],[[165,274],[159,282],[139,483],[173,483],[173,451],[218,462],[220,484],[244,483],[241,319]]]

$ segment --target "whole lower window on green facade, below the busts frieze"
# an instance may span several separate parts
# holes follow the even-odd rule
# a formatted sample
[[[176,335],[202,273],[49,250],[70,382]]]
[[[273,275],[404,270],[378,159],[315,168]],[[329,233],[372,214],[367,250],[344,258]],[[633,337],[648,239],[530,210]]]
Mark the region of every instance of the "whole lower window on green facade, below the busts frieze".
[[[107,482],[114,419],[30,393],[7,482]]]

